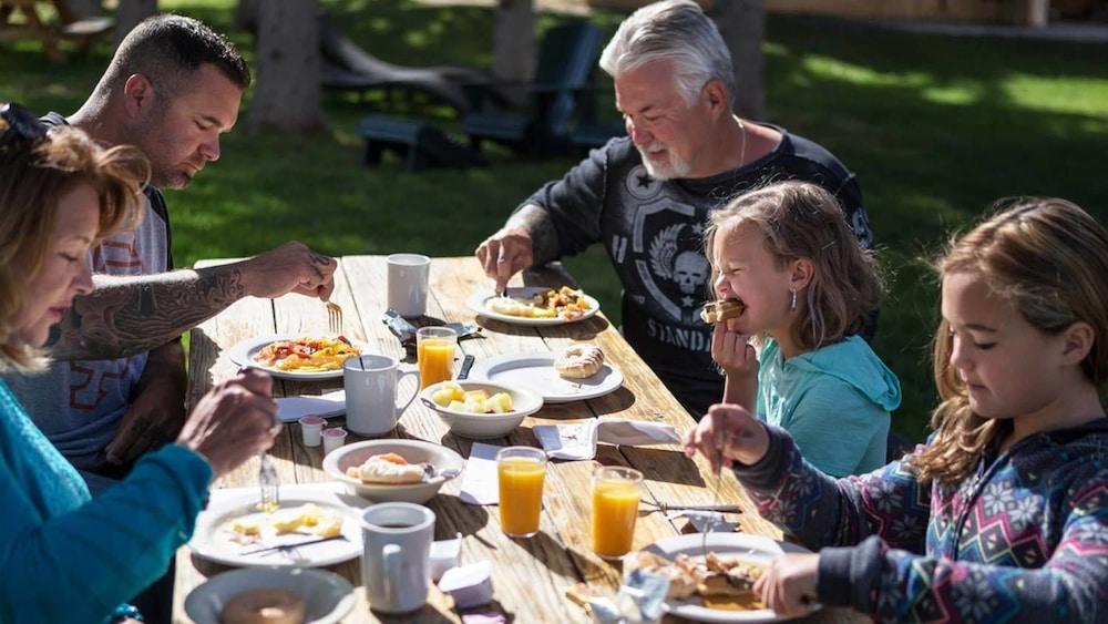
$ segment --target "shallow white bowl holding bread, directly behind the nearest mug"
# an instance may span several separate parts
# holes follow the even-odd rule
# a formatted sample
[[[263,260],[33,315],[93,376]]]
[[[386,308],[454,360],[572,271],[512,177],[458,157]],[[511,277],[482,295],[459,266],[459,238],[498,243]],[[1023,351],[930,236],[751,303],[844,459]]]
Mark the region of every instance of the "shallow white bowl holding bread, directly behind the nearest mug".
[[[366,440],[341,446],[324,458],[324,471],[346,490],[375,502],[423,503],[458,477],[465,460],[423,440]]]

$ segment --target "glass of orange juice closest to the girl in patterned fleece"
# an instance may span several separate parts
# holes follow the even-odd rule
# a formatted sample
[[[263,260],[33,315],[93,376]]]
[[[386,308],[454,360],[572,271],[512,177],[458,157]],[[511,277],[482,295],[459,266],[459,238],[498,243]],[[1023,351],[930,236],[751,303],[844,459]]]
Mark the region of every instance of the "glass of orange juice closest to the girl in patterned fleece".
[[[643,495],[643,473],[602,466],[593,471],[593,551],[616,559],[630,552]]]

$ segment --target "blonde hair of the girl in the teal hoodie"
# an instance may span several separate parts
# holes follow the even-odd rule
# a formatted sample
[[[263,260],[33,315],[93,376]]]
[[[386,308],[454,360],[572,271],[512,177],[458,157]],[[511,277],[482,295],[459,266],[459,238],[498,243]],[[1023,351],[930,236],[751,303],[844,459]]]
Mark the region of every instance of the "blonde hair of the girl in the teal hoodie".
[[[807,291],[798,298],[802,313],[792,338],[803,350],[832,345],[862,330],[881,297],[878,263],[847,225],[842,207],[824,188],[806,182],[780,182],[751,191],[711,214],[705,249],[721,227],[757,225],[778,267],[798,258],[814,267]],[[712,273],[718,268],[712,262]],[[714,275],[715,277],[715,275]]]

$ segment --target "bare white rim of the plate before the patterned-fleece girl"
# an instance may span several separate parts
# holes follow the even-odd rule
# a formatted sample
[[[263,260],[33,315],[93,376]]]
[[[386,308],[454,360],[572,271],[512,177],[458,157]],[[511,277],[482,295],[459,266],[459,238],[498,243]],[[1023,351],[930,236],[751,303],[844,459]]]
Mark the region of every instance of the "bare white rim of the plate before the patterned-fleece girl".
[[[752,562],[765,562],[767,564],[784,553],[811,552],[796,544],[778,542],[769,538],[746,533],[708,533],[707,549],[709,552],[717,554],[741,555],[742,559]],[[693,559],[701,560],[705,550],[704,535],[700,533],[690,533],[668,538],[659,540],[644,550],[666,559],[674,559],[679,554],[686,554]],[[685,601],[668,601],[667,606],[669,613],[697,622],[781,622],[791,620],[790,617],[778,615],[771,608],[724,611],[708,608]],[[819,607],[817,606],[815,608]]]

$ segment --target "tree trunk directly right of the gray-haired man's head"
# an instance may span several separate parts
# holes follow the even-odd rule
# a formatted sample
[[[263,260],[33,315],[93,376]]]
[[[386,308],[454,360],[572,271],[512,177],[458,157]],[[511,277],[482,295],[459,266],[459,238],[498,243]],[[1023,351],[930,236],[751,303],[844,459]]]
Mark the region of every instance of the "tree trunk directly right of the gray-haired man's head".
[[[731,51],[735,65],[735,112],[766,119],[761,44],[766,37],[766,0],[717,0],[712,17]]]

